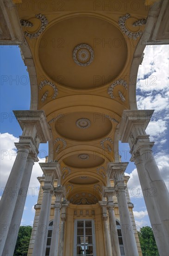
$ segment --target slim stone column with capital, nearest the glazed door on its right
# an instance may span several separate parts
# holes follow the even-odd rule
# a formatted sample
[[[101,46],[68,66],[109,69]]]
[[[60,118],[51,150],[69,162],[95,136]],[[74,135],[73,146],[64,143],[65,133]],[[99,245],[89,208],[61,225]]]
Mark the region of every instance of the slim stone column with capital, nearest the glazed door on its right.
[[[112,243],[110,237],[110,229],[108,226],[108,216],[107,216],[107,202],[99,201],[100,206],[102,208],[102,218],[104,225],[104,235],[105,235],[105,246],[106,246],[106,256],[112,256]]]

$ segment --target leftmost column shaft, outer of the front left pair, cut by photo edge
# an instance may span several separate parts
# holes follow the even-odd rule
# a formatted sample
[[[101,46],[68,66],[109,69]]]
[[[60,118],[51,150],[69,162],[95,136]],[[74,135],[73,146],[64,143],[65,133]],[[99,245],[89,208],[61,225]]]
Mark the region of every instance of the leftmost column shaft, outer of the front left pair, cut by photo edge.
[[[18,150],[13,168],[9,175],[4,193],[0,200],[0,255],[2,255],[6,237],[10,229],[10,223],[13,217],[13,211],[17,202],[21,181],[23,178],[29,147]]]

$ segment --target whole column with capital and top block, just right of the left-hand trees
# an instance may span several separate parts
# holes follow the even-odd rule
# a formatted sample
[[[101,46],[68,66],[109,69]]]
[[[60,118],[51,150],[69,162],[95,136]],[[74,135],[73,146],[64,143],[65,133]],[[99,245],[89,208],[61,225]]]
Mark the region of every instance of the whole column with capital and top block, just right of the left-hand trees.
[[[40,209],[38,228],[36,231],[32,256],[45,255],[45,243],[49,226],[49,209],[51,207],[50,194],[53,194],[54,180],[58,179],[58,175],[61,175],[59,163],[40,163],[40,167],[42,168],[45,175],[44,186],[42,187],[44,190],[44,195]]]

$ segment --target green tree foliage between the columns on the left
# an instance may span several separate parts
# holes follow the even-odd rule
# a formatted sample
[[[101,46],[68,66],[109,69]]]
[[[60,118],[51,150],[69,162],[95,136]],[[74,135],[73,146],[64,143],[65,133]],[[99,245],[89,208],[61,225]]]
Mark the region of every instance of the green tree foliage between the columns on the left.
[[[26,256],[31,238],[31,226],[20,226],[13,256]]]

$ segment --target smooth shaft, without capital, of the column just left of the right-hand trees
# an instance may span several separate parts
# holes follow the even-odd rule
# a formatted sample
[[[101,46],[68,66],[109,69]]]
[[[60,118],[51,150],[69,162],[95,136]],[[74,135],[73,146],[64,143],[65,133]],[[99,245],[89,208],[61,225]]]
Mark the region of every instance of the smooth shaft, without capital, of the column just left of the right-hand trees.
[[[119,190],[119,195],[117,195],[119,216],[121,224],[121,232],[123,237],[125,256],[138,256],[138,248],[136,244],[136,239],[132,229],[132,223],[130,218],[130,213],[126,201],[125,189]]]

